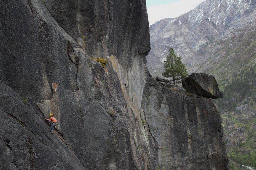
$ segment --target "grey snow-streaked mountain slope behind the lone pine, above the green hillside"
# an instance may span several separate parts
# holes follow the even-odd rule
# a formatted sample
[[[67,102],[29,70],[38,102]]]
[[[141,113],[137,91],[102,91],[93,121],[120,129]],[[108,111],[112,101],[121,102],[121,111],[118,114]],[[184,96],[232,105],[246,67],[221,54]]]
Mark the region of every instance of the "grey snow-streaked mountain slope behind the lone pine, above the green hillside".
[[[170,47],[189,73],[206,72],[219,80],[219,74],[237,68],[233,64],[255,62],[255,15],[255,1],[206,0],[180,17],[156,22],[150,26],[150,73],[161,75]]]

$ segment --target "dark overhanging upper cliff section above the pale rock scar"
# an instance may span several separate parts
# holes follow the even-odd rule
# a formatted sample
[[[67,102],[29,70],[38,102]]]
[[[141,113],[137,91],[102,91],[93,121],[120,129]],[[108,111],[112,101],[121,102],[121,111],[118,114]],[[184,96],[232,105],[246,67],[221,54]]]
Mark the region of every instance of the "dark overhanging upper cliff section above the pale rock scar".
[[[51,15],[91,57],[148,54],[150,37],[144,0],[44,0]]]

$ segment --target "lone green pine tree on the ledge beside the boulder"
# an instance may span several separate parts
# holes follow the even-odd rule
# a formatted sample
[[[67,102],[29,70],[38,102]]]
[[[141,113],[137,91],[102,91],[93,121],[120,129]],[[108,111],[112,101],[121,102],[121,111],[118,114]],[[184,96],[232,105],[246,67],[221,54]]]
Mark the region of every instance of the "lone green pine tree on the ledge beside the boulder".
[[[166,56],[164,61],[165,71],[162,75],[166,78],[171,77],[175,85],[176,80],[181,80],[188,75],[185,64],[181,62],[181,57],[177,57],[174,53],[174,49],[171,47],[169,55]]]

